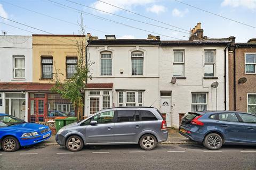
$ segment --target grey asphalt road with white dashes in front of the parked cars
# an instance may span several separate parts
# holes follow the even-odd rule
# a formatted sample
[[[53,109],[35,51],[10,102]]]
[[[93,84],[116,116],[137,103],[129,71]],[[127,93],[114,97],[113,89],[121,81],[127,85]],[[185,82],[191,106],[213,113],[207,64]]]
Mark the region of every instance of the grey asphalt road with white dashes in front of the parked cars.
[[[59,146],[0,150],[0,169],[256,169],[256,146],[223,146],[217,151],[198,144],[87,146],[70,152]]]

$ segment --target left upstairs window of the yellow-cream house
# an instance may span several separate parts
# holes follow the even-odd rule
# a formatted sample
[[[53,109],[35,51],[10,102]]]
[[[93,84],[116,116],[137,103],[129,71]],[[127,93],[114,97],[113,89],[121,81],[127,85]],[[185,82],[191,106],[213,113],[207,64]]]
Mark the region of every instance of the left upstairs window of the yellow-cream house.
[[[43,79],[52,79],[52,56],[42,57],[42,78]]]

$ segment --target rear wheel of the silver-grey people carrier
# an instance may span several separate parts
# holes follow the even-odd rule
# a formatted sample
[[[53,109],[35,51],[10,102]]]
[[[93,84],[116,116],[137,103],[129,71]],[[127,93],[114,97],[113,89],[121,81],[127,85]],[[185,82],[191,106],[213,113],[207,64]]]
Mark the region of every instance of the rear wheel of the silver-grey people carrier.
[[[157,145],[157,140],[154,135],[145,134],[140,138],[140,147],[144,150],[152,150]]]

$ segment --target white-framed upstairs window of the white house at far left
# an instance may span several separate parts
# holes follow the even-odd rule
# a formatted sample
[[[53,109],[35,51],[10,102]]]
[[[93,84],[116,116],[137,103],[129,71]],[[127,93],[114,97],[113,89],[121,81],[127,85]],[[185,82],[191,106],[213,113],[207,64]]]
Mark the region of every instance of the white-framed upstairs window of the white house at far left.
[[[14,56],[14,79],[25,78],[25,56]]]

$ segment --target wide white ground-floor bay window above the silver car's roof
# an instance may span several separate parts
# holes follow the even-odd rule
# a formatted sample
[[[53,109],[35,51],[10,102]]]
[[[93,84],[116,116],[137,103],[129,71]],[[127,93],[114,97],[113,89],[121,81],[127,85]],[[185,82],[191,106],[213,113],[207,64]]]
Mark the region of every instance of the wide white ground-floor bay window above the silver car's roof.
[[[118,106],[142,106],[143,92],[142,91],[119,91]]]

